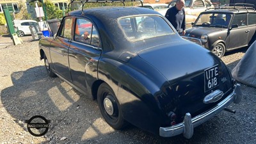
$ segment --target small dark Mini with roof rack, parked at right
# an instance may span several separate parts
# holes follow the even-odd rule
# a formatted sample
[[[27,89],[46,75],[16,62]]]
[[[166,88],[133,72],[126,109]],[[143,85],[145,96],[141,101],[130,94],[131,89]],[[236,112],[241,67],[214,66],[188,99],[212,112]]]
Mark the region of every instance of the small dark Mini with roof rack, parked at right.
[[[251,45],[256,39],[256,11],[235,4],[200,13],[184,38],[202,44],[218,57],[226,51]]]

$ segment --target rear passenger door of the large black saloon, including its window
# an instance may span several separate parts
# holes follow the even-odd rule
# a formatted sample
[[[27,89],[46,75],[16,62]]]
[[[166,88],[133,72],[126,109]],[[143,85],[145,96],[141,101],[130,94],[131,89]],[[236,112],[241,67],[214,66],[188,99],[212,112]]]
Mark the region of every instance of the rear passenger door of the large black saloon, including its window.
[[[85,36],[86,34],[89,35]],[[83,92],[88,90],[86,93],[90,93],[91,88],[88,86],[92,86],[92,83],[97,79],[100,54],[100,36],[95,25],[88,19],[76,19],[74,37],[68,51],[68,60],[73,84]]]

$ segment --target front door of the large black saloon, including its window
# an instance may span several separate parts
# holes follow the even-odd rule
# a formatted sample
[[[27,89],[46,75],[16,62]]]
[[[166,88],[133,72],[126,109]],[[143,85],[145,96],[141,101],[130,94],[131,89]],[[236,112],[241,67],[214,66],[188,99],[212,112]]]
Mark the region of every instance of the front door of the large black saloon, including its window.
[[[50,54],[54,70],[68,81],[72,81],[68,65],[68,47],[72,38],[72,17],[65,17],[55,40],[51,42]]]

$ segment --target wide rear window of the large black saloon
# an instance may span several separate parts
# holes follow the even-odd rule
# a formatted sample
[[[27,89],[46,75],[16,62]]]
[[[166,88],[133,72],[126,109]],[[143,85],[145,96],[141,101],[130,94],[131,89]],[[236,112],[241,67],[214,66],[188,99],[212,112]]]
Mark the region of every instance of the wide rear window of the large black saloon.
[[[169,24],[158,16],[125,17],[119,19],[118,23],[132,41],[174,33]]]

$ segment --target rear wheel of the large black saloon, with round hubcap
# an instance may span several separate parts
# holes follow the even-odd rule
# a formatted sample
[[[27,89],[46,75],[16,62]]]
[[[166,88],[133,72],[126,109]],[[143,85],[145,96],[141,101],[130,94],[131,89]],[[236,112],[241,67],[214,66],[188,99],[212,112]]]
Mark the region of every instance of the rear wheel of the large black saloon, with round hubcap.
[[[127,125],[127,122],[122,116],[120,104],[115,97],[115,93],[108,84],[100,84],[97,93],[97,101],[100,113],[111,127],[114,129],[123,129]]]

